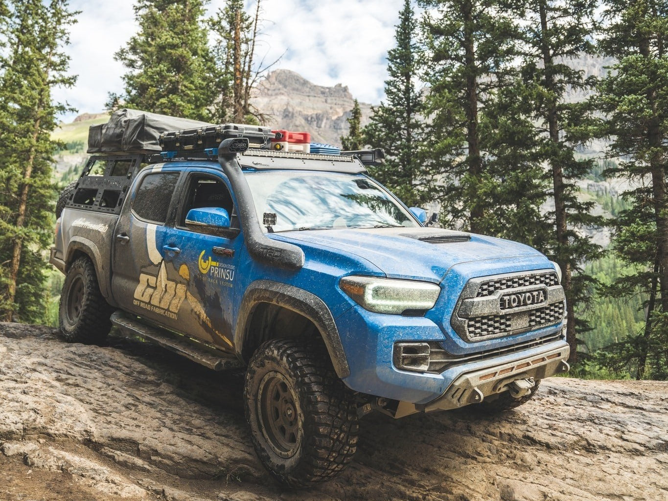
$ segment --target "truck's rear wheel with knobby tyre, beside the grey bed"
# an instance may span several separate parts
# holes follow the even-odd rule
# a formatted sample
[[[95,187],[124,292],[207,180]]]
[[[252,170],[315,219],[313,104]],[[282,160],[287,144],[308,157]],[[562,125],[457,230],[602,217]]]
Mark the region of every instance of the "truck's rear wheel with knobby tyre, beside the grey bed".
[[[60,331],[70,343],[102,343],[112,323],[112,307],[100,292],[95,267],[88,257],[79,257],[67,270],[60,293]]]

